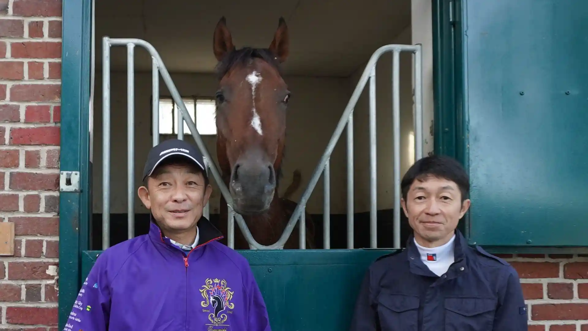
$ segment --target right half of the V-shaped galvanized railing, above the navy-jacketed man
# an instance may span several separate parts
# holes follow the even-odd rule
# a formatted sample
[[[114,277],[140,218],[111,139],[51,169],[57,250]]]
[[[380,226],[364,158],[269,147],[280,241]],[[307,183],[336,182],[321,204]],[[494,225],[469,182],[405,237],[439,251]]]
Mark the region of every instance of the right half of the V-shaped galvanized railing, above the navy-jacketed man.
[[[370,247],[377,247],[377,218],[376,218],[376,62],[385,52],[393,52],[392,57],[392,118],[393,118],[393,148],[394,148],[394,217],[393,217],[393,248],[400,247],[400,52],[410,52],[414,57],[414,74],[415,74],[415,110],[414,110],[414,130],[415,130],[415,160],[423,157],[422,148],[422,133],[423,133],[423,107],[422,107],[422,45],[385,45],[378,48],[369,59],[359,82],[351,95],[351,98],[343,111],[343,115],[335,128],[335,132],[331,136],[329,143],[319,164],[310,178],[310,182],[306,190],[300,198],[298,206],[296,206],[292,217],[284,230],[280,240],[288,239],[292,233],[293,227],[296,225],[296,220],[300,217],[303,220],[306,203],[310,198],[310,194],[314,190],[316,183],[321,174],[325,180],[325,231],[324,240],[326,244],[330,244],[330,229],[328,226],[328,216],[330,200],[328,194],[329,179],[329,158],[335,145],[339,141],[339,137],[343,132],[343,127],[347,125],[347,185],[348,185],[348,201],[347,201],[347,246],[348,249],[353,249],[353,109],[357,104],[363,88],[370,80],[369,85],[369,136],[370,136]],[[303,225],[300,224],[300,228]],[[302,230],[301,230],[302,233]],[[302,234],[300,235],[302,237]],[[301,239],[302,241],[302,239]],[[279,242],[279,241],[278,241]],[[302,242],[301,245],[302,247]],[[325,246],[329,248],[329,246]]]

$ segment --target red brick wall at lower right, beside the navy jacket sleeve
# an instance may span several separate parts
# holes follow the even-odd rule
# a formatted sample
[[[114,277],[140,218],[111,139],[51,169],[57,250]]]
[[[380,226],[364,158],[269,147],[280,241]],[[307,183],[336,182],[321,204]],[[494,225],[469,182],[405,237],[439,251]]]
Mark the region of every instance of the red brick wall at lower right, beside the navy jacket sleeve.
[[[588,255],[499,255],[519,272],[529,331],[588,331]]]

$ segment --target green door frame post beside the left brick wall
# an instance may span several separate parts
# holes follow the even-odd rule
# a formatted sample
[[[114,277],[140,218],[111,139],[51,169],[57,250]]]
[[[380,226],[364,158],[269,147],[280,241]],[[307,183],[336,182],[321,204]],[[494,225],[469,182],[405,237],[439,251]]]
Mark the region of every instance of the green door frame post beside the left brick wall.
[[[63,0],[61,171],[79,171],[80,190],[59,193],[59,329],[80,286],[81,252],[89,249],[91,165],[89,95],[92,0]],[[76,143],[78,142],[79,143]]]

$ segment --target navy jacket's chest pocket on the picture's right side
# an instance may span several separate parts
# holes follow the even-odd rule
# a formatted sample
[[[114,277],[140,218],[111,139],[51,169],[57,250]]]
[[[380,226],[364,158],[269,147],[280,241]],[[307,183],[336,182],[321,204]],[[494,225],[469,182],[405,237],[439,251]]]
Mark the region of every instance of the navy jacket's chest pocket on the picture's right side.
[[[496,299],[456,297],[445,299],[446,331],[492,331]]]

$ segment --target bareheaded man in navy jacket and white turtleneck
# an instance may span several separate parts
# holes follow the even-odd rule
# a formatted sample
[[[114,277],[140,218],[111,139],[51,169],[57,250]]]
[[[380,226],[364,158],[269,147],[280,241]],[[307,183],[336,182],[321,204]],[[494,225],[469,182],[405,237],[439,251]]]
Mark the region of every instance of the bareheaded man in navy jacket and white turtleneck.
[[[516,270],[468,246],[457,230],[470,206],[462,166],[449,157],[425,157],[400,186],[413,235],[405,250],[369,267],[350,330],[526,331]]]

